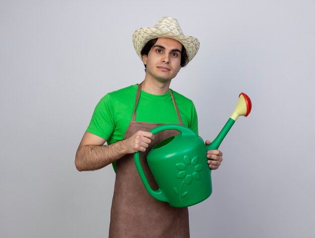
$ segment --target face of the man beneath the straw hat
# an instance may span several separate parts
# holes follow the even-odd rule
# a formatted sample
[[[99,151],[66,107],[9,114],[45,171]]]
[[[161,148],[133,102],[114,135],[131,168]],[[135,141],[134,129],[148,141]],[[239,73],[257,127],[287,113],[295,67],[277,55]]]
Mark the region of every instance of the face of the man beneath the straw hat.
[[[146,65],[145,77],[157,81],[170,81],[181,69],[182,43],[170,38],[159,38],[148,55],[142,56]]]

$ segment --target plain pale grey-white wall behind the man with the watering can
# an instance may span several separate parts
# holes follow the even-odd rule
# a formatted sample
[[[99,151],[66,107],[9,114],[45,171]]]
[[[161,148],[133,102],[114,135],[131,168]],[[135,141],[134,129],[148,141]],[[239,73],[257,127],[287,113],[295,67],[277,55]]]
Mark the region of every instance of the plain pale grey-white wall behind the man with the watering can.
[[[200,41],[171,88],[213,139],[241,92],[191,237],[315,237],[314,1],[0,1],[0,236],[106,237],[109,166],[77,172],[94,107],[144,78],[131,41],[175,17]],[[149,229],[149,227],[148,227]]]

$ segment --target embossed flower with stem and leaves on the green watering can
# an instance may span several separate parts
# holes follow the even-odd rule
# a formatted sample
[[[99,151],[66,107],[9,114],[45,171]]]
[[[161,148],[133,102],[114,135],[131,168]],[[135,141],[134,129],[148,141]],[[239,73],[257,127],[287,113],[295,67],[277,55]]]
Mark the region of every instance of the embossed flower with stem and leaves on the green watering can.
[[[176,164],[176,168],[180,171],[177,174],[177,178],[184,179],[180,188],[174,187],[174,192],[176,195],[179,196],[181,204],[183,204],[182,198],[188,195],[188,191],[183,191],[184,184],[186,183],[187,185],[190,185],[193,180],[200,180],[199,172],[203,169],[203,165],[199,165],[198,162],[198,156],[190,158],[188,155],[185,155],[184,163]]]

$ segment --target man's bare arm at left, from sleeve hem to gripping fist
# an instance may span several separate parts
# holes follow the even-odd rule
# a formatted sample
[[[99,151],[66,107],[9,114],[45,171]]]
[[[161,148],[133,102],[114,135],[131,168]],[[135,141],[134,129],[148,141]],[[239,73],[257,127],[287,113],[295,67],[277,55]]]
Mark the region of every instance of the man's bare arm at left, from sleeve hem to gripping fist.
[[[75,167],[78,171],[101,169],[128,153],[145,151],[154,135],[137,131],[128,139],[104,145],[105,139],[86,132],[75,154]]]

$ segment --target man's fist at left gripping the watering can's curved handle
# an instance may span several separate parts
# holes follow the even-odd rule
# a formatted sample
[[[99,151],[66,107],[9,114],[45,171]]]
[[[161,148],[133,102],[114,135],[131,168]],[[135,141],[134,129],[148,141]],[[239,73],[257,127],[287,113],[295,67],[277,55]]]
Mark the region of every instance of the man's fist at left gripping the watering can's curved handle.
[[[144,152],[154,138],[155,136],[151,132],[138,130],[124,140],[127,153]]]

